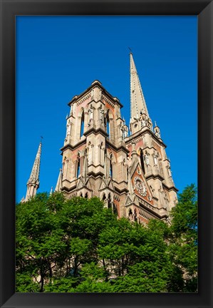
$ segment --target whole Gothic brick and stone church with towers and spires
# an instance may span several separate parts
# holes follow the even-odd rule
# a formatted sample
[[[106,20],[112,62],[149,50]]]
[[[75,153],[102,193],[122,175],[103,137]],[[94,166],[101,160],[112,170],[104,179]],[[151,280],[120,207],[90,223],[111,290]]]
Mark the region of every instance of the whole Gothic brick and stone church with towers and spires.
[[[118,98],[94,81],[68,103],[62,168],[55,191],[66,197],[103,200],[118,217],[147,223],[169,221],[177,203],[160,128],[152,124],[130,53],[130,127],[125,125]],[[27,183],[25,200],[39,187],[41,143]]]

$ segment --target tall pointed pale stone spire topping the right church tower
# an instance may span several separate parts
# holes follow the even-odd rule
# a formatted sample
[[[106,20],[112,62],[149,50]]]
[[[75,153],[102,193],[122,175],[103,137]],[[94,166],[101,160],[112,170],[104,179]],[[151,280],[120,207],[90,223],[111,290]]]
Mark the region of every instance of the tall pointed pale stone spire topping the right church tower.
[[[147,111],[145,98],[142,93],[142,88],[140,86],[140,80],[137,75],[137,69],[135,66],[135,62],[133,60],[132,52],[130,52],[130,101],[131,101],[131,110],[130,110],[131,120],[133,120],[133,118],[137,119],[140,118],[140,113],[145,113],[147,118],[150,118],[149,113]]]

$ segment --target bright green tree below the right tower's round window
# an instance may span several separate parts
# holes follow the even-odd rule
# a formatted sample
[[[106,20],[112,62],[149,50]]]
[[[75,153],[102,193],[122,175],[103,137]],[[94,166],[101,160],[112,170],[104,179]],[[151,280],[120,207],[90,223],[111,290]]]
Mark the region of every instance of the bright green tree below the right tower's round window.
[[[123,219],[100,235],[101,257],[113,270],[108,276],[115,276],[113,292],[166,292],[172,264],[164,229],[157,220],[144,227]]]

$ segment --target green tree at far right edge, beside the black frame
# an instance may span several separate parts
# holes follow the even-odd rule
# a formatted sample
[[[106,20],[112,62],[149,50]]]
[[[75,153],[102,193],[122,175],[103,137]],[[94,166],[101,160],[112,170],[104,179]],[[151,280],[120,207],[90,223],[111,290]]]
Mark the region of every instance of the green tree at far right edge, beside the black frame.
[[[170,254],[183,282],[172,291],[197,292],[197,188],[189,185],[172,209]]]

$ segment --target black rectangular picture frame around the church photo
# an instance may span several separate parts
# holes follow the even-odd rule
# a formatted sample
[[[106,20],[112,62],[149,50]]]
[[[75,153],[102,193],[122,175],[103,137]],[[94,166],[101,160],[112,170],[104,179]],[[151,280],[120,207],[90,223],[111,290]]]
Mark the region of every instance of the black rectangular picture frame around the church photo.
[[[1,307],[212,307],[212,56],[213,4],[209,0],[0,0],[1,3]],[[197,293],[15,293],[15,17],[17,15],[198,16]],[[183,72],[184,73],[184,72]],[[178,111],[177,111],[178,112]],[[189,140],[190,142],[190,140]]]

